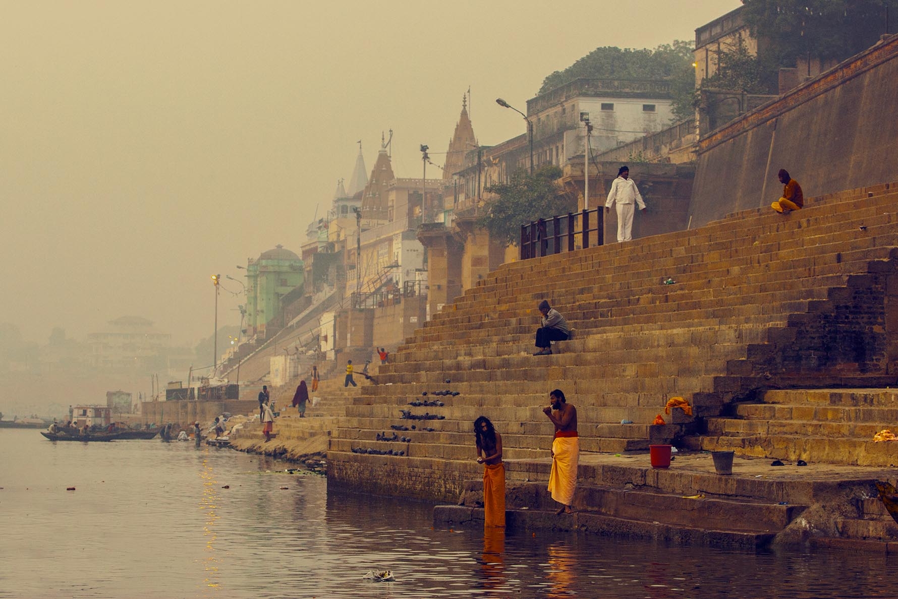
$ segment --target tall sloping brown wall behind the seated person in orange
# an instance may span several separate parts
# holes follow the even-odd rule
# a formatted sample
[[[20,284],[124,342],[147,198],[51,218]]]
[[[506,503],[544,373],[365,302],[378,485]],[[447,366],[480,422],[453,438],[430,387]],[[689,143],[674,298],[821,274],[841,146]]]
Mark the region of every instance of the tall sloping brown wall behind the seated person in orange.
[[[779,169],[805,197],[898,180],[898,36],[702,137],[691,226],[769,206]]]

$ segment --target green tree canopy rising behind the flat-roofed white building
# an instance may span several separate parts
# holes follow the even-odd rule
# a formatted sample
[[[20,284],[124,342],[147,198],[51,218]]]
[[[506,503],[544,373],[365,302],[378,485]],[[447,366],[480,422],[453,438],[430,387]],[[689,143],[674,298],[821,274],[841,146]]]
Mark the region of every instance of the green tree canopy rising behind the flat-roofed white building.
[[[674,40],[655,49],[595,48],[563,71],[555,71],[542,80],[539,93],[548,92],[575,79],[665,80],[671,83],[674,118],[692,116],[692,92],[695,70],[692,66],[692,42]]]

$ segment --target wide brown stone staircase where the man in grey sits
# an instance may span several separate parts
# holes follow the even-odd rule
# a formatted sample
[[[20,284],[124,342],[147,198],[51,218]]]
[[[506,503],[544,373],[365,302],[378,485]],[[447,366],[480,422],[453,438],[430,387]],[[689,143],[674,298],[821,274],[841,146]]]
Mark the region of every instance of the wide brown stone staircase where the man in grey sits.
[[[584,495],[577,500],[584,514],[627,521],[626,513],[604,508],[636,501],[634,492],[651,496],[639,499],[646,505],[658,495],[670,496],[672,506],[681,503],[674,499],[686,494],[685,485],[664,475],[647,484],[653,472],[647,463],[635,467],[641,482],[629,480],[636,474],[617,480],[616,465],[589,470],[591,453],[602,462],[607,454],[645,450],[652,441],[732,449],[745,464],[755,456],[831,469],[894,465],[895,445],[872,442],[880,428],[895,427],[891,394],[798,390],[878,390],[898,380],[896,207],[894,185],[879,185],[813,198],[785,216],[746,210],[692,231],[502,265],[407,339],[392,364],[381,367],[381,384],[366,387],[348,406],[330,442],[331,480],[457,501],[480,478],[471,462],[471,426],[485,415],[503,436],[509,480],[522,489],[541,480],[534,488],[544,488],[553,427],[541,408],[555,388],[577,406],[585,452]],[[665,284],[668,279],[674,282]],[[541,299],[576,331],[551,356],[533,357]],[[776,391],[787,389],[796,391]],[[653,426],[673,396],[688,400],[697,418],[685,427]],[[852,397],[867,399],[852,405]],[[394,434],[399,438],[378,440]],[[868,469],[842,473],[856,481],[852,505],[866,501],[872,478],[894,476]],[[709,476],[717,477],[713,469]],[[828,480],[839,476],[826,474]],[[749,483],[741,491],[690,493],[704,497],[689,504],[699,507],[688,522],[713,522],[709,510],[719,502],[732,504],[723,513],[754,502],[760,512],[787,514],[780,524],[788,524],[823,501],[819,494],[806,496],[804,504],[773,501],[781,497],[776,484],[761,489],[760,482]],[[543,505],[544,490],[526,501]],[[794,509],[779,509],[781,501]],[[681,508],[666,511],[682,515]],[[863,520],[867,512],[845,515],[852,517]],[[668,520],[648,527],[656,536],[693,538],[682,533],[686,524],[672,515]],[[824,536],[838,537],[832,518],[826,523]],[[757,544],[788,528],[780,524],[762,519],[750,526],[761,535]],[[658,528],[665,525],[682,534]]]

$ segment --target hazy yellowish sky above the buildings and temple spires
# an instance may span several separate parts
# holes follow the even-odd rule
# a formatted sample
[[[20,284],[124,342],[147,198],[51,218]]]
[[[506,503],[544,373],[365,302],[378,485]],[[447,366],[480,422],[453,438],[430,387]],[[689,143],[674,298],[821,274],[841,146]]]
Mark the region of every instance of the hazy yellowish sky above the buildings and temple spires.
[[[299,251],[315,209],[370,169],[442,163],[471,86],[484,145],[524,133],[543,77],[599,46],[691,40],[738,0],[0,4],[0,322],[44,342],[125,314],[214,330],[210,275]],[[235,292],[241,286],[225,279]],[[238,324],[223,291],[220,325]]]

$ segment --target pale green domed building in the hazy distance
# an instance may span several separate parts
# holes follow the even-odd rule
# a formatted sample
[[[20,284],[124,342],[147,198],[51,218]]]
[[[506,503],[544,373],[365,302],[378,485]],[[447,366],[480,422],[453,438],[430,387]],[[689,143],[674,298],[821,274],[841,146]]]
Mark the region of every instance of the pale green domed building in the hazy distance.
[[[303,293],[303,260],[277,245],[246,266],[246,334],[269,337],[286,322],[285,309]]]

